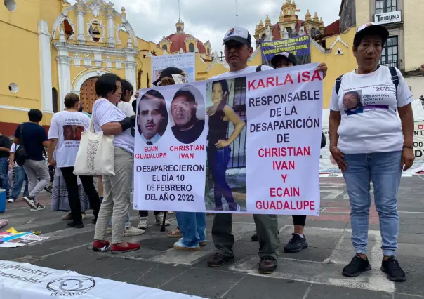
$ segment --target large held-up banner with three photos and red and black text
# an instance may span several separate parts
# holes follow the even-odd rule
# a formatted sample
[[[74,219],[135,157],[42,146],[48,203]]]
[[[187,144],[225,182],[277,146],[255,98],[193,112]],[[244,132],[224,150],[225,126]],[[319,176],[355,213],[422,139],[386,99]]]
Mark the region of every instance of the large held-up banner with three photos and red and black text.
[[[134,208],[319,215],[316,68],[141,90]]]

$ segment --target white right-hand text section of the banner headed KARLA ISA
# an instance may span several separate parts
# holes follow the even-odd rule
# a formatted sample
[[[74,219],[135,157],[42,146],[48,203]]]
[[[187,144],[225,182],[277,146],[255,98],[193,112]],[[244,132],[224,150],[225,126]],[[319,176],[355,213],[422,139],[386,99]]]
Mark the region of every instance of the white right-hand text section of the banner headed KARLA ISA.
[[[247,79],[247,210],[319,215],[322,74],[316,64]]]

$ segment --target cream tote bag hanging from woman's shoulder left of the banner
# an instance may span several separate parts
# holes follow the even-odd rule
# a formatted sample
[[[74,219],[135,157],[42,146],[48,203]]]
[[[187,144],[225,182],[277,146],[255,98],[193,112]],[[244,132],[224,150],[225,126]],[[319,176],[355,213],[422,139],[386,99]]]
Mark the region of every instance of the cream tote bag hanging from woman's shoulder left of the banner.
[[[93,121],[81,135],[74,175],[115,175],[113,135],[94,132]]]

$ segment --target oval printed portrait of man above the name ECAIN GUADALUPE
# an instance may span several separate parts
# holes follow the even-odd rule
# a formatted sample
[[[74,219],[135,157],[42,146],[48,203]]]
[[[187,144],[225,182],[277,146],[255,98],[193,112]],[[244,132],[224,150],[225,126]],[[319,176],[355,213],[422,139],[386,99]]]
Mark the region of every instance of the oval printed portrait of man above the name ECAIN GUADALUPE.
[[[168,126],[168,112],[164,96],[159,91],[147,91],[138,105],[138,133],[147,145],[154,145]]]

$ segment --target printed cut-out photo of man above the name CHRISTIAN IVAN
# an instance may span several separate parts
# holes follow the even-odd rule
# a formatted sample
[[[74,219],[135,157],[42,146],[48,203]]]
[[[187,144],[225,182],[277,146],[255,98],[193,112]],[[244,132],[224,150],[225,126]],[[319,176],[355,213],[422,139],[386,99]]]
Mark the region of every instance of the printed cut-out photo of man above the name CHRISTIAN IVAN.
[[[187,144],[196,141],[204,130],[205,121],[197,119],[197,102],[192,91],[181,89],[171,102],[171,115],[175,126],[172,133],[178,141]]]

